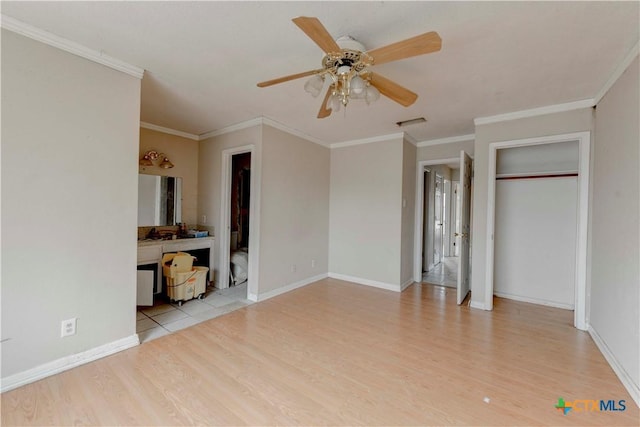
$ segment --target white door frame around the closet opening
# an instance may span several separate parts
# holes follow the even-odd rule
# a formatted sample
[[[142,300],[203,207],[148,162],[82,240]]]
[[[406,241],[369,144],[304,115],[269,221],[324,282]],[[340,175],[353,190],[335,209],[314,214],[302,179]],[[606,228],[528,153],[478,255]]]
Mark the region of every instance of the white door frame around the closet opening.
[[[589,220],[589,159],[591,132],[575,132],[536,138],[492,142],[489,144],[489,170],[487,191],[487,261],[485,266],[484,309],[493,309],[495,204],[496,204],[496,158],[500,149],[531,145],[555,144],[578,141],[578,201],[576,218],[576,281],[573,324],[586,331],[587,324],[587,226]]]

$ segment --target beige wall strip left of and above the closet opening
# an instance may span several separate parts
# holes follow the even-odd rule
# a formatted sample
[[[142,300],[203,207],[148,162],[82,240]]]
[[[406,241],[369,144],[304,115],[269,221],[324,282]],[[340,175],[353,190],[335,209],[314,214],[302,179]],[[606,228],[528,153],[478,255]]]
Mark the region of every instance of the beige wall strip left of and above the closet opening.
[[[473,159],[473,229],[471,231],[472,303],[482,306],[485,298],[489,144],[499,141],[590,131],[592,119],[593,109],[585,108],[476,126]]]

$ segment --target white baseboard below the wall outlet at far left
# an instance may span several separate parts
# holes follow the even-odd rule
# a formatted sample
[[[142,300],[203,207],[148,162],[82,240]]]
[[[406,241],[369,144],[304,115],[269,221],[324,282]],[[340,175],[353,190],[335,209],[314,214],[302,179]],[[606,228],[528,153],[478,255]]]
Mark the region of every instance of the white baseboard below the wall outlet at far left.
[[[101,359],[139,344],[138,334],[134,334],[81,353],[62,357],[23,372],[18,372],[17,374],[9,375],[6,378],[2,378],[0,392],[4,393],[5,391],[13,390],[14,388],[75,368],[76,366],[84,365],[85,363]]]

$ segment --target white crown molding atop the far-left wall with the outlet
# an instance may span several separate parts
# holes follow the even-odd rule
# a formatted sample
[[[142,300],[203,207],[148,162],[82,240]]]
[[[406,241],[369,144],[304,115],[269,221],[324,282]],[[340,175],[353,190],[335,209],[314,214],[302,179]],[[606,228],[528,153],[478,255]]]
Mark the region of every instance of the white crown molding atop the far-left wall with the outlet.
[[[16,34],[20,34],[60,50],[64,50],[65,52],[72,53],[81,58],[88,59],[89,61],[97,62],[98,64],[129,74],[130,76],[138,79],[141,79],[144,74],[144,69],[140,67],[136,67],[135,65],[131,65],[121,61],[120,59],[113,58],[97,50],[90,49],[80,43],[57,36],[48,31],[34,27],[33,25],[26,24],[10,16],[0,16],[0,26],[6,30],[13,31]]]

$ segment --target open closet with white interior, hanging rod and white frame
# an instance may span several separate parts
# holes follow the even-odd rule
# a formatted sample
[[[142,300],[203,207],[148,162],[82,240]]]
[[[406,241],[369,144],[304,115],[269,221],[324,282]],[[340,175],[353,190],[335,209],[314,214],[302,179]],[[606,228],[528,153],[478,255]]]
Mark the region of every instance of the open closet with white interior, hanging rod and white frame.
[[[590,132],[489,144],[484,301],[574,311],[586,330]]]

